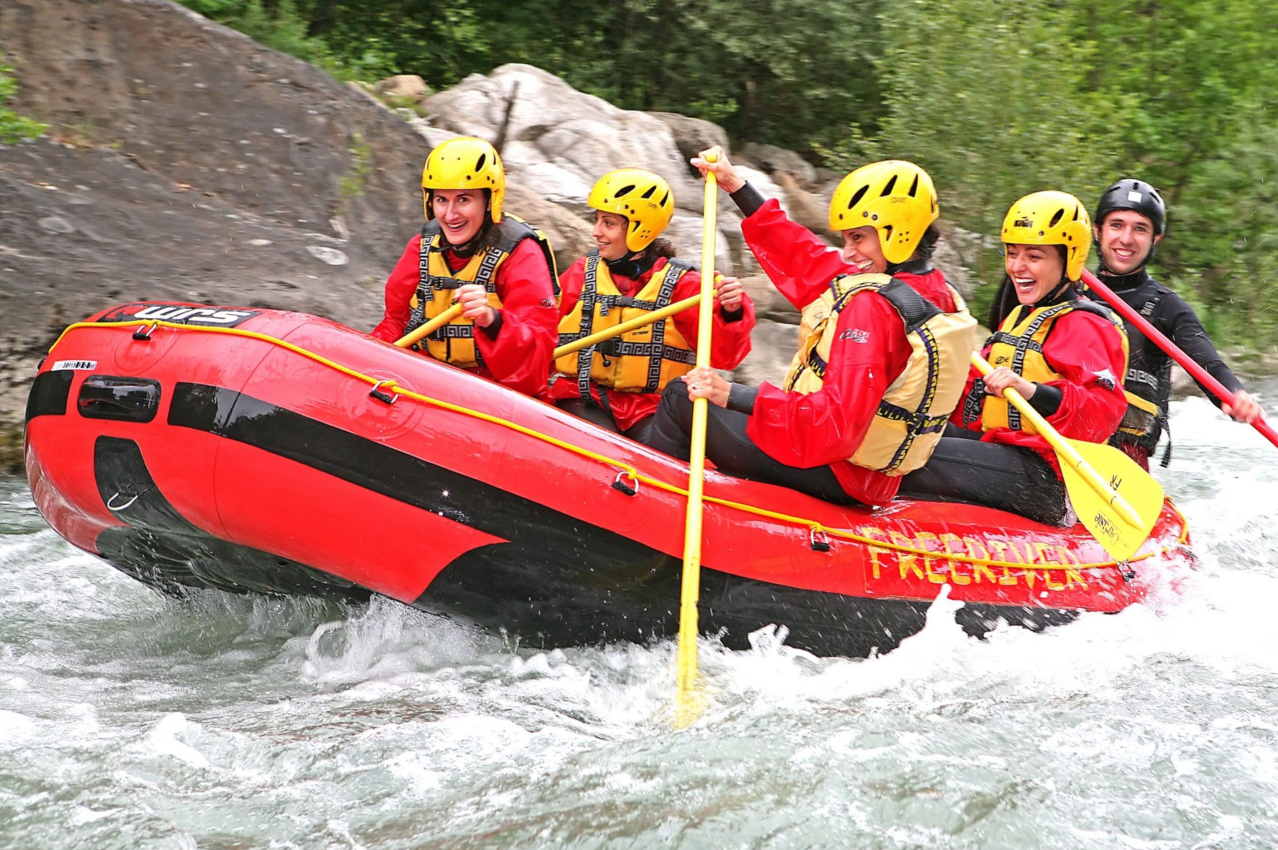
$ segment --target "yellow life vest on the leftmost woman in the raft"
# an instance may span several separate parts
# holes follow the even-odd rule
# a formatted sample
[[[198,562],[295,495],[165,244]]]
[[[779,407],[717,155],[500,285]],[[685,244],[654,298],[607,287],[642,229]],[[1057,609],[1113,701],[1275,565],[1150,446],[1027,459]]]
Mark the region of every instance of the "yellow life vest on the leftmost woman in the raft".
[[[535,239],[542,253],[546,254],[546,265],[551,271],[551,285],[555,289],[555,297],[558,298],[555,253],[551,251],[551,243],[546,234],[509,212],[502,216],[501,222],[493,226],[500,231],[496,247],[477,251],[465,266],[452,271],[443,258],[447,244],[443,242],[440,222],[437,220],[426,222],[426,226],[422,228],[422,248],[418,254],[417,293],[409,300],[410,313],[408,326],[404,328],[405,334],[422,327],[452,307],[454,293],[463,284],[482,285],[488,293],[488,305],[493,309],[501,309],[501,298],[497,297],[497,268],[524,239]],[[483,366],[483,357],[481,357],[474,340],[473,320],[459,316],[437,328],[423,341],[427,353],[437,360],[461,368]],[[422,344],[418,343],[413,348],[420,350]]]

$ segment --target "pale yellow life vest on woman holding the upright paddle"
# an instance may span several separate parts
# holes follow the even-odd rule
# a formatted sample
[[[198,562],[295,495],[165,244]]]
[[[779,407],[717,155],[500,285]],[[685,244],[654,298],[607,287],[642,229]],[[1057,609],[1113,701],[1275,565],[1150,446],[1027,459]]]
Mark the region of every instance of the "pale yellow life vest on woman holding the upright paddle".
[[[786,376],[789,392],[809,394],[822,387],[838,313],[855,295],[878,293],[905,322],[910,359],[883,394],[865,438],[849,458],[858,467],[888,475],[923,467],[962,398],[967,364],[976,348],[976,320],[962,297],[946,285],[957,307],[953,313],[942,312],[909,284],[888,275],[841,275],[803,311],[803,337]]]

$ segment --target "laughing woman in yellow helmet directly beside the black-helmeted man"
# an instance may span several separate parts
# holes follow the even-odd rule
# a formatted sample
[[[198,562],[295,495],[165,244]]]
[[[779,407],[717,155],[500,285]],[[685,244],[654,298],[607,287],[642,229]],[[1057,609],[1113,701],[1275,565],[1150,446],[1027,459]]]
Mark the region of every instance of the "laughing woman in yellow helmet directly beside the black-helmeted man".
[[[1066,437],[1104,442],[1127,406],[1120,383],[1127,336],[1109,308],[1079,295],[1091,224],[1077,198],[1025,196],[1007,211],[1002,238],[1007,275],[996,313],[1006,314],[983,352],[996,368],[969,372],[946,436],[928,465],[905,477],[901,495],[1061,523],[1067,506],[1056,452],[1003,391],[1020,392]]]

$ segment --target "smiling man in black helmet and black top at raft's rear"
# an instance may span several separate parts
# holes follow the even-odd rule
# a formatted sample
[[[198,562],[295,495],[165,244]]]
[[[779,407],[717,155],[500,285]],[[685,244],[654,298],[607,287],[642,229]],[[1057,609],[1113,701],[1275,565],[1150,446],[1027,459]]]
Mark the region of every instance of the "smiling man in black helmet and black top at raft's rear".
[[[1220,360],[1194,309],[1149,276],[1145,266],[1167,229],[1167,206],[1158,189],[1143,180],[1123,179],[1100,196],[1093,217],[1100,249],[1100,282],[1144,316],[1233,394],[1233,404],[1220,409],[1238,422],[1251,423],[1260,405],[1242,389],[1242,382]],[[1157,344],[1127,325],[1131,355],[1123,386],[1127,414],[1109,442],[1149,469],[1149,455],[1167,431],[1167,401],[1172,392],[1172,359]],[[1219,405],[1215,396],[1208,399]],[[1171,436],[1163,465],[1171,460]]]

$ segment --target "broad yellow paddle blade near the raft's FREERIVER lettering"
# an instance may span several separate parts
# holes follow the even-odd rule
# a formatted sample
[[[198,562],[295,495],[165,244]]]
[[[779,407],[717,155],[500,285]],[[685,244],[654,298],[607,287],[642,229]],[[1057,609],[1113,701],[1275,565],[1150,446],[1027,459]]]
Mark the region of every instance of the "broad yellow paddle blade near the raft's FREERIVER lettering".
[[[1070,440],[1070,445],[1091,464],[1105,483],[1127,500],[1140,516],[1140,527],[1132,528],[1063,458],[1061,459],[1065,491],[1070,495],[1074,513],[1112,559],[1126,561],[1140,550],[1149,533],[1154,530],[1154,523],[1163,510],[1163,487],[1135,460],[1113,446],[1081,440]]]

